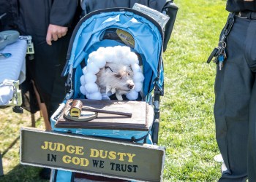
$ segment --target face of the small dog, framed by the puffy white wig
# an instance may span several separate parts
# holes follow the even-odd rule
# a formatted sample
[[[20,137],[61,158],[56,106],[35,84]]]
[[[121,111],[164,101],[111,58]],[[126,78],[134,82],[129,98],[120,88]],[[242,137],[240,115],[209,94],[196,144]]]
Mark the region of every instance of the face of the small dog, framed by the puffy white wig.
[[[118,95],[126,94],[134,88],[133,72],[129,66],[118,63],[107,63],[97,73],[97,84],[100,92],[115,90]]]

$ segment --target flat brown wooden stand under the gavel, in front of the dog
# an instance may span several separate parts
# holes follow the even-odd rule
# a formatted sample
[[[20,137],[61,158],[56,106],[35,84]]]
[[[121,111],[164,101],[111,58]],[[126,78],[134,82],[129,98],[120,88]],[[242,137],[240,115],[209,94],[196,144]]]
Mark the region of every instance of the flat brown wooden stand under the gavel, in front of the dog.
[[[116,100],[81,100],[83,110],[97,112],[97,117],[90,121],[79,122],[65,117],[65,112],[72,106],[68,100],[55,127],[83,128],[101,130],[142,130],[148,131],[148,104],[141,101]]]

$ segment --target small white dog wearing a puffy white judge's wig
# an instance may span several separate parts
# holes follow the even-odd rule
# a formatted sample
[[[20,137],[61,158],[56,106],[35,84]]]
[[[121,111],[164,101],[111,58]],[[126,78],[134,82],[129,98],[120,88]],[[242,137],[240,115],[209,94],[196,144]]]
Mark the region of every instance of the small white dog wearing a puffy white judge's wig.
[[[143,71],[138,56],[129,47],[99,47],[89,54],[87,66],[80,76],[80,92],[88,99],[109,99],[116,94],[118,100],[135,100],[143,87]]]

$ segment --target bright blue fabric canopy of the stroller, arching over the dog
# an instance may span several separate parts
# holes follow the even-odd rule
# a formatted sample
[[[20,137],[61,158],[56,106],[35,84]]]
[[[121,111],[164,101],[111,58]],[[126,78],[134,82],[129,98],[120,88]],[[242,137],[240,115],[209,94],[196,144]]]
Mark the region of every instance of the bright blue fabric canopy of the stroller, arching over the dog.
[[[147,95],[157,84],[162,87],[162,29],[151,17],[142,15],[133,9],[102,9],[83,17],[73,32],[67,55],[68,66],[64,75],[75,69],[75,80],[80,80],[81,63],[87,63],[89,54],[99,47],[124,46],[124,42],[114,39],[102,39],[106,30],[118,28],[132,35],[135,44],[131,47],[138,53],[143,65],[143,93]],[[80,82],[73,85],[75,97],[78,97]]]

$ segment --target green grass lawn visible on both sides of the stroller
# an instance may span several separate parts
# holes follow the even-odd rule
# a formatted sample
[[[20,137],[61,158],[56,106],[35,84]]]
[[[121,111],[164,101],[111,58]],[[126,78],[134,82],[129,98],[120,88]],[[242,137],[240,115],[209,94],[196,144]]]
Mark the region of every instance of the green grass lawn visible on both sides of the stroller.
[[[206,60],[225,25],[225,0],[175,0],[175,27],[164,53],[165,96],[161,98],[159,145],[166,147],[164,181],[217,181],[220,163],[214,125],[214,63]],[[5,116],[7,114],[7,116]],[[0,150],[28,126],[29,114],[0,110]],[[37,127],[42,127],[38,118]],[[0,181],[39,181],[39,167],[19,165],[19,142],[3,157]],[[18,176],[17,178],[15,176]],[[19,179],[19,180],[18,180]]]

